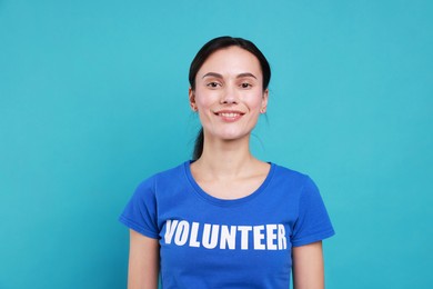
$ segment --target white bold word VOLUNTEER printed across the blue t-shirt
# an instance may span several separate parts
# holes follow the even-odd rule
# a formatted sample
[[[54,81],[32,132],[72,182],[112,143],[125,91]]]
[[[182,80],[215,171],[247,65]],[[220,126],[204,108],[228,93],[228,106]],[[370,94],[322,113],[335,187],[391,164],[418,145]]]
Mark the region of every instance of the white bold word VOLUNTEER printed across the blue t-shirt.
[[[199,237],[201,231],[201,238]],[[236,242],[236,240],[238,241]],[[249,240],[252,238],[252,248]],[[281,223],[260,226],[226,226],[188,222],[185,220],[167,220],[164,241],[177,246],[203,247],[207,249],[235,250],[285,250],[288,241],[285,229]]]

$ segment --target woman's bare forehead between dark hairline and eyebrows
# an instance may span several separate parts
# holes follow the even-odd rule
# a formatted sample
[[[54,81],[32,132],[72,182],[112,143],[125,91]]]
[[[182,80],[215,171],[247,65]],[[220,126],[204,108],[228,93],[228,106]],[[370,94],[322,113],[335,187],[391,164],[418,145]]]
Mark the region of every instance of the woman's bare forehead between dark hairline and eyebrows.
[[[198,77],[208,72],[223,76],[250,72],[258,78],[262,74],[258,58],[239,47],[229,47],[213,52],[200,68]]]

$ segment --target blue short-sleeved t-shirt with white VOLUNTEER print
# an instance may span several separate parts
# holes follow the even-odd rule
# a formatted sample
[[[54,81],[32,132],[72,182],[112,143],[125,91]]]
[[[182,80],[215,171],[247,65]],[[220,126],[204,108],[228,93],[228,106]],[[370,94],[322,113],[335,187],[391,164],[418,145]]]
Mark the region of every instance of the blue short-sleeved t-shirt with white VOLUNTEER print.
[[[144,180],[120,216],[160,242],[162,288],[289,288],[292,247],[334,235],[318,188],[271,163],[253,193],[223,200],[194,181],[190,161]]]

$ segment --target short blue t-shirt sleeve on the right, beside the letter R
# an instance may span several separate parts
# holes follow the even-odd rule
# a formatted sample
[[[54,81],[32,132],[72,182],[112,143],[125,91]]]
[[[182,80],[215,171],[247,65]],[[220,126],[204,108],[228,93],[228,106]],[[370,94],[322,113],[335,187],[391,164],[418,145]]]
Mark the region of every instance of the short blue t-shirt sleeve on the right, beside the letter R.
[[[293,247],[321,241],[333,236],[335,232],[322,197],[310,178],[306,178],[300,193],[299,215],[292,235]]]

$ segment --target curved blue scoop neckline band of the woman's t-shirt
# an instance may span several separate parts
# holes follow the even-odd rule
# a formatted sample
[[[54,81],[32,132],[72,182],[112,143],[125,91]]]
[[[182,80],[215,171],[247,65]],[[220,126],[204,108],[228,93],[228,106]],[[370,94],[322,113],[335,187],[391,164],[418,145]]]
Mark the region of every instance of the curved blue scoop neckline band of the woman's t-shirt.
[[[197,183],[194,177],[192,177],[192,173],[191,173],[191,163],[192,162],[193,162],[192,160],[185,161],[183,163],[183,168],[184,168],[187,179],[188,179],[189,183],[192,186],[193,191],[195,192],[195,195],[198,195],[199,197],[204,199],[207,202],[210,202],[212,205],[216,205],[220,207],[239,206],[239,205],[245,203],[245,202],[254,199],[259,195],[261,195],[264,191],[264,189],[268,187],[269,182],[271,181],[272,176],[274,173],[274,170],[276,168],[275,163],[268,162],[269,165],[271,165],[271,168],[269,169],[268,176],[264,179],[264,181],[259,186],[259,188],[255,189],[255,191],[253,191],[252,193],[250,193],[245,197],[242,197],[242,198],[238,198],[238,199],[220,199],[220,198],[216,198],[216,197],[209,195],[199,186],[199,183]]]

